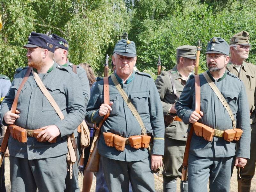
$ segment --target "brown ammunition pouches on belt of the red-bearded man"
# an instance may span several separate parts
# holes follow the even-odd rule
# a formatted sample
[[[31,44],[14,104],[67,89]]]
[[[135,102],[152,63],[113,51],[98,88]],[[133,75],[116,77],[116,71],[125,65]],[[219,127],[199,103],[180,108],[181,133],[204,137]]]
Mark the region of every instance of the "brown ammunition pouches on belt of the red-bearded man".
[[[43,131],[43,129],[35,129],[35,130],[30,130],[30,129],[24,129],[20,126],[17,125],[9,125],[9,129],[10,129],[10,134],[12,136],[13,139],[16,139],[22,143],[27,143],[27,137],[35,137],[37,141],[39,142],[46,142],[46,140],[44,139],[43,141],[41,141],[41,138],[37,138],[37,135]],[[57,137],[55,137],[50,143],[56,143],[57,141]]]

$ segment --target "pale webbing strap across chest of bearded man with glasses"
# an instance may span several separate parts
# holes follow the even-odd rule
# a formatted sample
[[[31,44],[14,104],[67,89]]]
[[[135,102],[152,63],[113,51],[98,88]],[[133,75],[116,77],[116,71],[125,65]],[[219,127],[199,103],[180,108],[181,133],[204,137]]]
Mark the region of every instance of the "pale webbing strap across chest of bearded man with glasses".
[[[208,84],[210,85],[210,87],[212,88],[212,90],[215,92],[215,94],[217,95],[217,97],[221,101],[222,105],[228,111],[228,115],[230,116],[230,119],[232,120],[233,129],[235,129],[236,128],[236,120],[235,120],[234,114],[233,114],[230,106],[228,105],[228,102],[225,100],[225,97],[221,94],[218,87],[213,83],[213,81],[209,77],[208,73],[205,71],[203,73],[203,75],[204,75],[204,78],[206,79],[206,81],[208,82]]]

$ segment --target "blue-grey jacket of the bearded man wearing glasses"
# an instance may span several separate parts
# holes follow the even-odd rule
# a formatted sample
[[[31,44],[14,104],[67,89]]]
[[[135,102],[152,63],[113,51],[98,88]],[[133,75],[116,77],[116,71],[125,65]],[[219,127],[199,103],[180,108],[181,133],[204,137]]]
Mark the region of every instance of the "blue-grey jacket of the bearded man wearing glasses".
[[[209,72],[208,72],[209,73]],[[209,73],[210,74],[210,73]],[[200,77],[201,91],[201,111],[204,116],[198,120],[213,129],[226,130],[232,129],[232,121],[228,115],[228,111],[221,104],[217,95],[212,91],[202,74]],[[212,78],[212,76],[210,75]],[[251,127],[250,116],[248,113],[248,100],[243,82],[236,76],[225,72],[224,76],[215,81],[221,94],[227,100],[237,123],[237,128],[244,132],[241,139],[237,142],[238,149],[236,151],[236,142],[227,142],[221,137],[214,137],[212,142],[204,140],[203,137],[192,136],[190,144],[190,153],[199,157],[230,157],[238,156],[250,158],[250,141]],[[189,123],[189,117],[195,110],[195,79],[190,77],[185,85],[180,100],[175,104],[178,116],[185,124]]]

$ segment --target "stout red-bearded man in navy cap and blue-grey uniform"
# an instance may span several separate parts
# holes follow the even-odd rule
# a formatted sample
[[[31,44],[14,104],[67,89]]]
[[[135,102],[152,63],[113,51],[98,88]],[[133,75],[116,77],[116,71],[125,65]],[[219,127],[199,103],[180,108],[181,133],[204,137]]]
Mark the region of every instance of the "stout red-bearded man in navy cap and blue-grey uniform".
[[[28,50],[28,65],[38,74],[65,118],[60,120],[31,73],[20,92],[16,113],[12,113],[14,97],[28,67],[15,75],[1,105],[1,120],[4,125],[15,124],[27,130],[43,129],[37,138],[42,136],[41,141],[46,142],[27,135],[27,142],[21,143],[10,136],[11,191],[64,191],[67,135],[82,122],[86,111],[82,87],[77,75],[53,61],[55,44],[50,37],[32,32],[24,48]],[[57,141],[50,143],[55,137]]]

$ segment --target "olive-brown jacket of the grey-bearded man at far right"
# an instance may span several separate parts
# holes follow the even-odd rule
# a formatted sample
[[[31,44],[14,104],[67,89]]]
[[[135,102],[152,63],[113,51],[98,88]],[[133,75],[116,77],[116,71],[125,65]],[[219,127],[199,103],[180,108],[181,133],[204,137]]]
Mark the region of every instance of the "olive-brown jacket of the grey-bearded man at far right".
[[[255,88],[256,88],[256,66],[248,61],[244,61],[241,66],[240,73],[236,70],[235,66],[229,61],[226,66],[227,70],[241,79],[245,86],[245,91],[248,97],[249,110],[251,115],[251,124],[256,122],[255,113]]]

